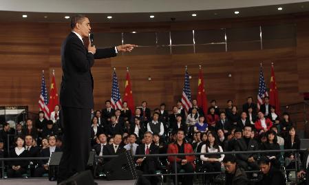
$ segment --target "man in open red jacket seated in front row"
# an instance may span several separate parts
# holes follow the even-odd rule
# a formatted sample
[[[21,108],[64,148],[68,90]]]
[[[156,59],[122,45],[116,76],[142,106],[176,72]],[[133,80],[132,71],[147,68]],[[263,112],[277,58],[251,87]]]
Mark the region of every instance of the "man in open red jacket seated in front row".
[[[184,142],[184,131],[182,129],[178,129],[176,141],[169,144],[167,153],[193,153],[191,144]],[[186,173],[194,172],[195,165],[193,162],[195,160],[195,155],[169,155],[167,160],[169,160],[173,173],[175,173],[175,160],[177,162],[177,173],[180,173],[181,169],[183,169]],[[193,175],[185,175],[184,179],[180,179],[180,176],[178,176],[178,182],[180,181],[182,181],[182,184],[192,185]],[[175,177],[173,178],[173,182],[175,184]]]

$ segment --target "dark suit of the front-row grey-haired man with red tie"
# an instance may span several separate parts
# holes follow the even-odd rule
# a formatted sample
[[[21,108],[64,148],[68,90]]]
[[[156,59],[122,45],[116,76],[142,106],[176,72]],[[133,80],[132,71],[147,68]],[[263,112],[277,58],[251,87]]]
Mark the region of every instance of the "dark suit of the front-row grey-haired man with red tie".
[[[151,143],[149,147],[149,154],[158,154],[159,153],[159,146],[156,144]],[[145,144],[138,145],[136,149],[136,155],[145,155]],[[139,157],[135,158],[135,161]],[[156,170],[160,168],[160,161],[158,157],[146,157],[145,160],[142,162],[140,166],[140,170],[145,174],[152,174],[155,173]]]

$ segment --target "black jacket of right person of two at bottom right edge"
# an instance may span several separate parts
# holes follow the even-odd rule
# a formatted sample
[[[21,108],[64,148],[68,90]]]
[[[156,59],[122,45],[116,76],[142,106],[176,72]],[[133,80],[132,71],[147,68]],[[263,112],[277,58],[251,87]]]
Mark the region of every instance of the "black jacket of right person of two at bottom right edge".
[[[263,174],[261,181],[256,185],[285,185],[286,181],[281,171],[276,168],[270,167],[270,171],[267,174]]]

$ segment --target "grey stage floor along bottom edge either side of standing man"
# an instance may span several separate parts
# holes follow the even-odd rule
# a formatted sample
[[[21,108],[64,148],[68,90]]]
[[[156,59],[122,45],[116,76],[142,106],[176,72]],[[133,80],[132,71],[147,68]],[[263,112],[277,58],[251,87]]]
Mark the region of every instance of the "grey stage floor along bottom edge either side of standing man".
[[[96,180],[99,185],[134,185],[135,180],[115,180],[115,181],[104,181]],[[48,179],[0,179],[1,185],[56,185],[56,182],[49,181]]]

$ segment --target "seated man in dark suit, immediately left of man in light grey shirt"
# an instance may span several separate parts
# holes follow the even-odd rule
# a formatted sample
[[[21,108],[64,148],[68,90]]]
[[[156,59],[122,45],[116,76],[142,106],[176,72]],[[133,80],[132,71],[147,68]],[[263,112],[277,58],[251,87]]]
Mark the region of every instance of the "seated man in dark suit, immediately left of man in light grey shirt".
[[[103,149],[103,155],[119,155],[120,153],[124,153],[126,151],[123,146],[121,146],[122,142],[122,135],[119,133],[116,133],[114,136],[114,142],[112,144],[109,144]],[[105,162],[109,162],[111,158],[104,158]]]

